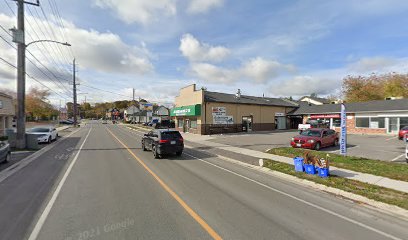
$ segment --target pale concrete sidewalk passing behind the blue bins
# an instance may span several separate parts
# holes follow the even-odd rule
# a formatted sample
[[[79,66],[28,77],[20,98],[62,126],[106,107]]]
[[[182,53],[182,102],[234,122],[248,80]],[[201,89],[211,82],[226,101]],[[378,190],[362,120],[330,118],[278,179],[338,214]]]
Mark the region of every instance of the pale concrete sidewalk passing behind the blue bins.
[[[218,149],[222,149],[225,151],[239,153],[239,154],[256,157],[256,158],[272,159],[274,161],[278,161],[282,163],[288,163],[292,165],[294,164],[292,158],[273,155],[273,154],[255,151],[251,149],[233,147],[233,146],[226,145],[226,144],[210,142],[208,140],[213,138],[211,136],[197,135],[197,134],[190,134],[190,133],[182,133],[182,135],[183,135],[183,138],[187,141],[199,143],[199,144],[202,144],[208,147],[218,148]],[[342,168],[336,168],[336,167],[330,167],[330,172],[333,175],[337,175],[340,177],[353,179],[353,180],[357,180],[360,182],[365,182],[365,183],[378,185],[381,187],[386,187],[386,188],[408,193],[408,182],[394,180],[394,179],[376,176],[376,175],[371,175],[367,173],[355,172],[355,171],[342,169]]]

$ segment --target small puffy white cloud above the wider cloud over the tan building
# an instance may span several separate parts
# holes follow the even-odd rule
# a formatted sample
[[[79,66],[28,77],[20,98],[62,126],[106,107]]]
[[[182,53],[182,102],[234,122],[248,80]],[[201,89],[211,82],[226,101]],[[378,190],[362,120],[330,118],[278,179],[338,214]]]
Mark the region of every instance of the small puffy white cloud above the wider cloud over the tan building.
[[[179,50],[183,56],[193,62],[219,62],[230,54],[230,50],[228,48],[222,46],[210,46],[207,43],[200,43],[191,34],[184,34],[181,37]]]

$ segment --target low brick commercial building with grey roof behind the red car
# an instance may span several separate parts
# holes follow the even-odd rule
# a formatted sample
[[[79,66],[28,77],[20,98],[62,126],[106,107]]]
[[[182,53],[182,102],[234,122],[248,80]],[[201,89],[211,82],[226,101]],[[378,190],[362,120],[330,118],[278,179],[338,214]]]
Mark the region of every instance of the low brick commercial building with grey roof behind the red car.
[[[340,104],[313,105],[300,102],[289,117],[302,117],[303,123],[315,122],[340,130]],[[345,103],[347,132],[396,134],[408,126],[408,99]]]

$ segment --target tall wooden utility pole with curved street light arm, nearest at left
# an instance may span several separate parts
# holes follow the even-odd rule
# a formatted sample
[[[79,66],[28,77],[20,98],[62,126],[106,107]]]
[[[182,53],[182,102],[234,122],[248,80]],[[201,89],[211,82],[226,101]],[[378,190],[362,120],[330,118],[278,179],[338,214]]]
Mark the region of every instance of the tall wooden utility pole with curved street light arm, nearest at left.
[[[24,149],[26,147],[26,129],[25,129],[25,51],[28,46],[38,42],[51,42],[64,46],[71,46],[71,44],[65,42],[58,42],[54,40],[37,40],[25,44],[24,37],[24,2],[19,1],[18,11],[18,29],[12,28],[10,31],[13,33],[13,42],[17,43],[17,135],[16,135],[16,147]]]

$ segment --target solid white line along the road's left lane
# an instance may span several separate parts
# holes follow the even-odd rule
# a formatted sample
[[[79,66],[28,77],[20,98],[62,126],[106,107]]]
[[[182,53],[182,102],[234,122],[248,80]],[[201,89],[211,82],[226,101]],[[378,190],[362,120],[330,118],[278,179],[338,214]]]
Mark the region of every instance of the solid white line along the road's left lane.
[[[40,218],[38,219],[37,224],[35,225],[33,231],[31,232],[30,237],[28,238],[28,240],[36,240],[37,239],[38,234],[40,233],[41,228],[44,225],[45,220],[47,219],[48,214],[50,213],[51,208],[55,203],[55,200],[57,199],[59,193],[61,192],[62,186],[65,183],[65,180],[67,179],[69,173],[71,172],[72,167],[74,166],[75,162],[78,159],[79,153],[81,152],[82,148],[85,145],[86,140],[89,137],[89,134],[91,133],[91,130],[92,130],[92,127],[89,128],[89,131],[88,131],[88,134],[85,137],[85,140],[82,142],[81,146],[79,147],[79,150],[78,150],[77,154],[75,155],[72,162],[69,164],[67,170],[64,173],[64,176],[61,178],[61,181],[58,183],[57,188],[55,189],[54,193],[52,194],[52,197],[51,197],[50,201],[48,202],[47,206],[45,207],[44,211],[42,212]]]

